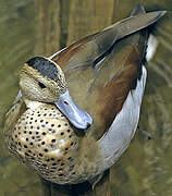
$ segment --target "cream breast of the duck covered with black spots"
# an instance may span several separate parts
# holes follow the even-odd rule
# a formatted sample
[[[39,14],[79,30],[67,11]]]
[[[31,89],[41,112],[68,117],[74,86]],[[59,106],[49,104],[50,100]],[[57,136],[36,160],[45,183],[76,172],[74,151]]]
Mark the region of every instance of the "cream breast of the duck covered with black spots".
[[[46,180],[59,184],[78,181],[74,157],[78,137],[54,106],[28,109],[15,124],[11,151]]]

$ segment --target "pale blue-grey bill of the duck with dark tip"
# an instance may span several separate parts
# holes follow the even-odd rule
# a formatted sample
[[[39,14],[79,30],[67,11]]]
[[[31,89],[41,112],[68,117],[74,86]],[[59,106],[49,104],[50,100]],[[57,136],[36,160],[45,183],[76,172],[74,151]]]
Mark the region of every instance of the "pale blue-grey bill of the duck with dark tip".
[[[90,115],[75,105],[69,90],[60,95],[54,105],[76,128],[85,130],[93,123]]]

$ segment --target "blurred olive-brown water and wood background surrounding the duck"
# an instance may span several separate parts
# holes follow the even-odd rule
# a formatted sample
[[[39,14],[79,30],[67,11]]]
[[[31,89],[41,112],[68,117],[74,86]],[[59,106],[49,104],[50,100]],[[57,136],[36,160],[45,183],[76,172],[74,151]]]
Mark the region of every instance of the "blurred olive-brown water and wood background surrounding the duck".
[[[152,33],[159,46],[148,64],[138,131],[110,174],[113,196],[172,195],[172,0],[0,0],[0,196],[41,196],[34,171],[4,144],[3,117],[19,90],[19,71],[33,56],[50,56],[130,15],[168,10]]]

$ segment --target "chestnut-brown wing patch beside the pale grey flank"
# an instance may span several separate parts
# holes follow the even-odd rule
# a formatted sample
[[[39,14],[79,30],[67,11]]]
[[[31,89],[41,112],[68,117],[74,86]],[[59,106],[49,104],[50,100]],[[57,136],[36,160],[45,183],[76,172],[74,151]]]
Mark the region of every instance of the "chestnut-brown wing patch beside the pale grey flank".
[[[97,102],[101,107],[101,120],[105,121],[105,132],[113,122],[115,115],[121,111],[128,91],[136,85],[138,78],[138,68],[140,64],[139,53],[136,48],[132,48],[119,66],[119,73],[99,93]]]

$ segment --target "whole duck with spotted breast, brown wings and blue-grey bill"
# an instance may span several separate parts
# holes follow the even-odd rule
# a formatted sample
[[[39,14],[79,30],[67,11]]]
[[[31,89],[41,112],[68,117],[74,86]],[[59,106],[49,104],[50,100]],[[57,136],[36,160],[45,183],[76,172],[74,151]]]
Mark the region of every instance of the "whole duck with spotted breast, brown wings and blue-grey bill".
[[[50,58],[28,60],[5,115],[12,154],[58,184],[91,181],[114,164],[139,119],[147,75],[143,28],[164,13],[138,5],[131,17]]]

